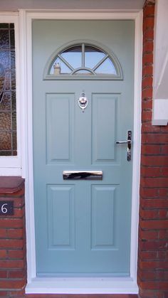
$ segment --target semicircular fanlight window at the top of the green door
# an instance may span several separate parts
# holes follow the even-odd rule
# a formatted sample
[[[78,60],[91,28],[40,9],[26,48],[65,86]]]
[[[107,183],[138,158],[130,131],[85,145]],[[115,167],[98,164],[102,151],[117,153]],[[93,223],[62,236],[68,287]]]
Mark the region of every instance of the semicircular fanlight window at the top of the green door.
[[[86,42],[53,53],[44,72],[44,80],[103,78],[122,80],[120,63],[110,50]]]

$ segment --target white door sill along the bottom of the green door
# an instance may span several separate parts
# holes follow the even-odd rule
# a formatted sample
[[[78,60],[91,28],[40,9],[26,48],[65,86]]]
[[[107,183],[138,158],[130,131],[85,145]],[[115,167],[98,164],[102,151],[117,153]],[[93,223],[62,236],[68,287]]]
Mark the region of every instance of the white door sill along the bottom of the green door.
[[[26,285],[26,294],[137,294],[130,277],[36,277]]]

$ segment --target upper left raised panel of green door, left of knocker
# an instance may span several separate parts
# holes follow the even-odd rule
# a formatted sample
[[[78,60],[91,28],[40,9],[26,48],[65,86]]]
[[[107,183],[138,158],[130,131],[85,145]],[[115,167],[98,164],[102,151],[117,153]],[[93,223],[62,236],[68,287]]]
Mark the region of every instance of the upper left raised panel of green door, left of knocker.
[[[47,163],[73,161],[74,95],[46,94]]]

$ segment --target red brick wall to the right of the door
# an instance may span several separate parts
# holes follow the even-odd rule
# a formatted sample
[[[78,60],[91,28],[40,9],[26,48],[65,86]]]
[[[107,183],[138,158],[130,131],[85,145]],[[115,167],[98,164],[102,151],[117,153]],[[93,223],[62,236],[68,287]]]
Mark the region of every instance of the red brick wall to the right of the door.
[[[152,126],[154,0],[143,18],[142,156],[137,280],[140,297],[168,297],[168,127]]]

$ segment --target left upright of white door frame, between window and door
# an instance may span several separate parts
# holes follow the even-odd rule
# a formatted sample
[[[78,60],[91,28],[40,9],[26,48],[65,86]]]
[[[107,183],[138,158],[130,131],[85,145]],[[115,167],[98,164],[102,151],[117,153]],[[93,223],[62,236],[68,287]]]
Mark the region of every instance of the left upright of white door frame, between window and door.
[[[35,223],[33,201],[33,131],[32,131],[32,67],[31,67],[31,21],[26,18],[26,11],[21,10],[21,95],[23,98],[23,177],[25,178],[26,205],[26,251],[28,283],[36,277]]]

